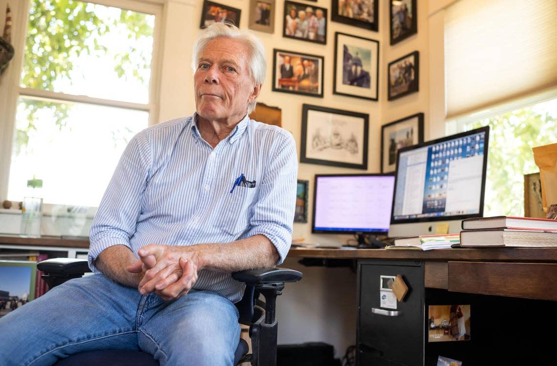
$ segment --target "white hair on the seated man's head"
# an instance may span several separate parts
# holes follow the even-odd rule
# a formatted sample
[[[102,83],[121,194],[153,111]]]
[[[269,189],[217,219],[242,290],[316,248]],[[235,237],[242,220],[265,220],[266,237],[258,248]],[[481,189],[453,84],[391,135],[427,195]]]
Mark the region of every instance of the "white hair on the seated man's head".
[[[227,37],[238,39],[243,42],[248,49],[248,67],[250,69],[252,80],[256,85],[262,85],[265,81],[266,61],[265,47],[263,43],[249,29],[238,29],[238,27],[229,23],[213,23],[202,29],[197,36],[196,42],[193,44],[192,68],[195,73],[199,56],[203,49],[215,38]],[[248,114],[255,109],[256,101],[249,103],[247,106]]]

